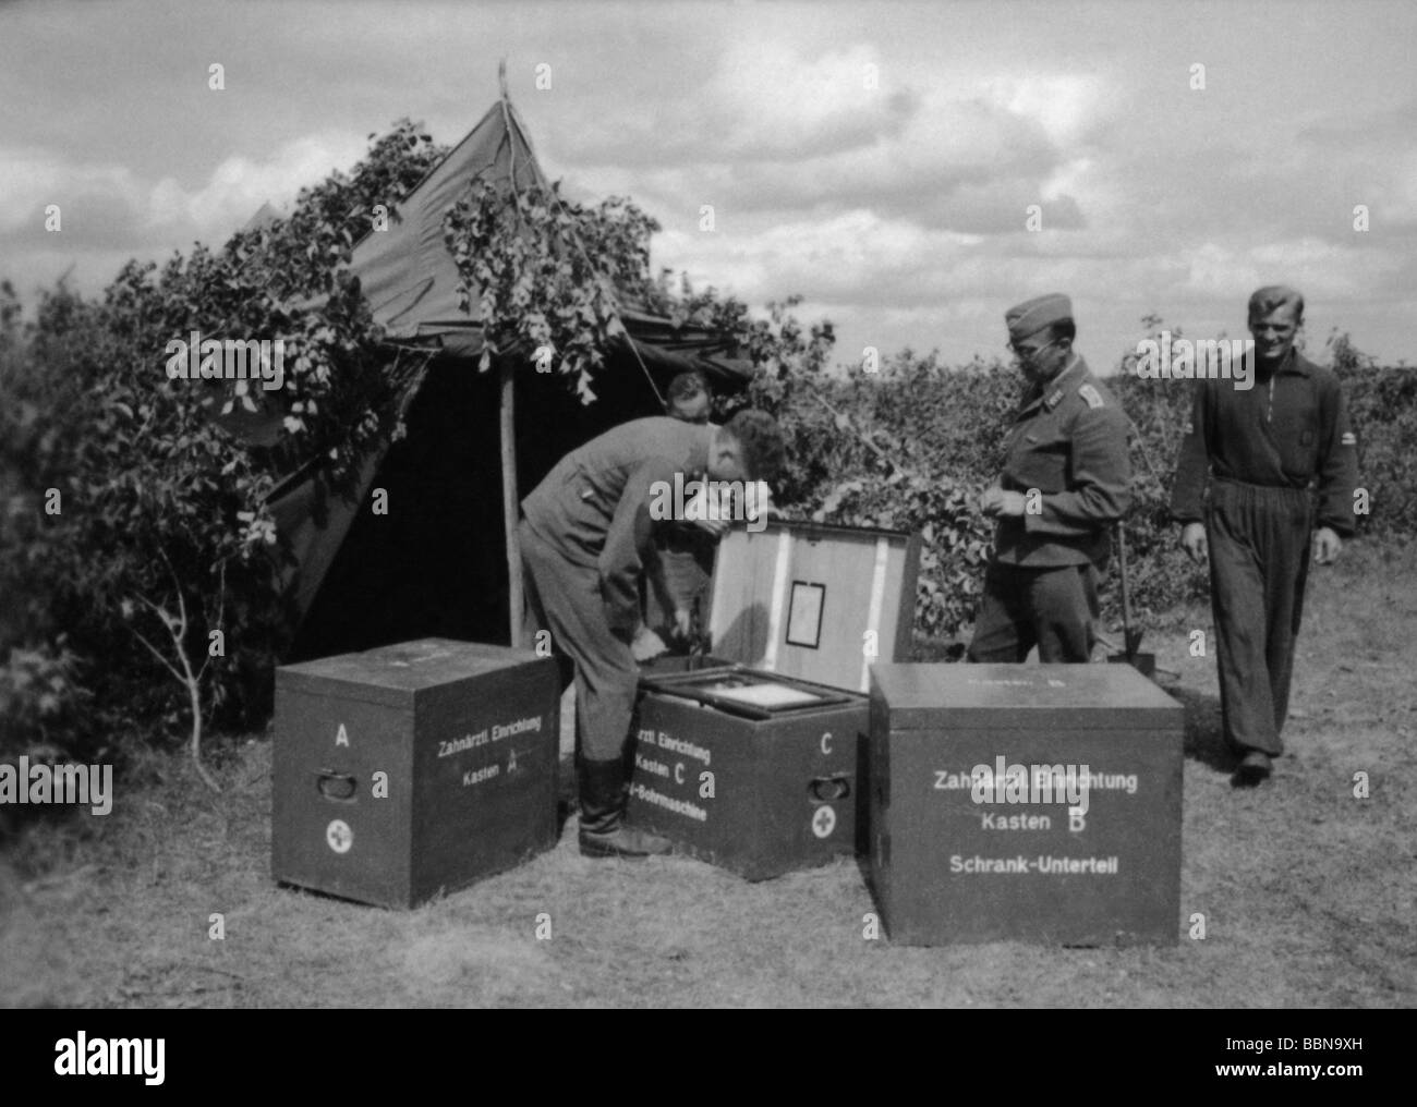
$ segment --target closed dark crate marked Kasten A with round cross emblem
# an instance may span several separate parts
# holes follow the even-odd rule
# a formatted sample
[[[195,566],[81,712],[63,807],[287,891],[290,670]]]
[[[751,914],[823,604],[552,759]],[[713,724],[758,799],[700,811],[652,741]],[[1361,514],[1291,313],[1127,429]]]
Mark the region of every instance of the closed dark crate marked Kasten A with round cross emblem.
[[[555,663],[422,638],[276,670],[272,875],[412,907],[555,844]]]

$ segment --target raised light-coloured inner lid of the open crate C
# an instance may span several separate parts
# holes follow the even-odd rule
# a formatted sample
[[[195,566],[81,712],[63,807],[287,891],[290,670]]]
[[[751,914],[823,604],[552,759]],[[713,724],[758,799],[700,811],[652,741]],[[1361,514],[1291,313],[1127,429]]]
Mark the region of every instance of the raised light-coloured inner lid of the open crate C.
[[[871,664],[910,651],[918,570],[920,535],[907,531],[785,520],[734,528],[714,559],[708,653],[866,692]]]

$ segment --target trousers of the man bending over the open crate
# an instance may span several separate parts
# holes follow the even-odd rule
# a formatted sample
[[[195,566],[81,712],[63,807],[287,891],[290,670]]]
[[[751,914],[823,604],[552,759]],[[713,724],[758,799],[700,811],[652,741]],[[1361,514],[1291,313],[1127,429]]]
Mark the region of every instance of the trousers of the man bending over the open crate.
[[[551,631],[551,648],[575,664],[575,745],[592,762],[623,756],[639,667],[605,620],[598,569],[572,565],[527,521],[517,527],[526,569],[529,633]]]

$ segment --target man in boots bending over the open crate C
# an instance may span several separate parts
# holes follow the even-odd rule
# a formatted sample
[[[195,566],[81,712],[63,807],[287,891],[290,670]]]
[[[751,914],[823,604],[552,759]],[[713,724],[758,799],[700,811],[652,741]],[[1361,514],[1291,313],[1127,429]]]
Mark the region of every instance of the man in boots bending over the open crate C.
[[[534,620],[575,663],[581,852],[667,854],[666,838],[625,825],[625,742],[639,668],[631,640],[650,551],[650,500],[689,483],[772,480],[782,435],[765,413],[724,426],[666,416],[622,423],[563,457],[521,501],[517,527]]]

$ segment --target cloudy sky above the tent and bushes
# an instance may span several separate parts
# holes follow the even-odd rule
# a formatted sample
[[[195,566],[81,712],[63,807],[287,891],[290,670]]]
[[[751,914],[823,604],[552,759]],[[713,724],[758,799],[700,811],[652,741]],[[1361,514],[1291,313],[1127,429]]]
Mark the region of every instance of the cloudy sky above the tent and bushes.
[[[656,269],[801,294],[839,362],[1003,357],[1005,311],[1064,292],[1105,372],[1149,313],[1243,337],[1268,283],[1311,352],[1410,362],[1414,44],[1404,0],[11,4],[0,277],[217,245],[404,116],[451,146],[506,58],[571,197],[633,198]]]

